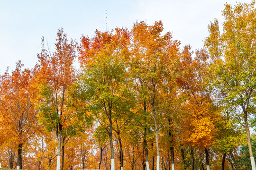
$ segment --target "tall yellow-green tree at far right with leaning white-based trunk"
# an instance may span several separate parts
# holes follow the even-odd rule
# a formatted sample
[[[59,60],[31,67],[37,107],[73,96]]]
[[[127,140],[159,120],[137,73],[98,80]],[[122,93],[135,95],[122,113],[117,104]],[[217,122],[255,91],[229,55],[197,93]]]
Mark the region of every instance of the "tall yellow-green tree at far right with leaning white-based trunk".
[[[247,132],[247,143],[252,169],[256,170],[251,146],[248,118],[253,113],[256,96],[256,32],[255,1],[250,4],[237,3],[234,7],[225,4],[223,10],[223,33],[219,22],[214,20],[208,26],[210,35],[205,46],[210,52],[215,71],[214,87],[225,94],[228,106],[239,106]]]

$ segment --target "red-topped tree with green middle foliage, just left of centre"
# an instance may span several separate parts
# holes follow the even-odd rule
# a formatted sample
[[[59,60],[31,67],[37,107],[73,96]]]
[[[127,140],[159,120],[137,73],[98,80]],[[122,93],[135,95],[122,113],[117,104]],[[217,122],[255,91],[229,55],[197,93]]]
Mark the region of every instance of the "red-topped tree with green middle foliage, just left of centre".
[[[129,33],[116,28],[115,32],[95,32],[94,38],[82,37],[80,91],[87,109],[108,132],[111,150],[111,170],[115,169],[113,124],[129,110],[131,92],[126,57]]]

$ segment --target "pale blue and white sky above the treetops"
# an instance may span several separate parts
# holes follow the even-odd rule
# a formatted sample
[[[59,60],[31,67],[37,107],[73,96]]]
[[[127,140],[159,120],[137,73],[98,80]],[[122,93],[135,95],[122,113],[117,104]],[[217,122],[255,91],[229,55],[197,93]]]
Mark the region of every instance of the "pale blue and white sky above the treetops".
[[[41,37],[53,51],[60,27],[68,38],[94,36],[95,30],[131,28],[145,20],[148,25],[162,20],[164,32],[173,33],[182,46],[203,47],[207,26],[217,18],[223,21],[224,4],[238,0],[0,0],[0,74],[20,59],[33,68],[40,52]],[[249,3],[251,0],[242,0]]]

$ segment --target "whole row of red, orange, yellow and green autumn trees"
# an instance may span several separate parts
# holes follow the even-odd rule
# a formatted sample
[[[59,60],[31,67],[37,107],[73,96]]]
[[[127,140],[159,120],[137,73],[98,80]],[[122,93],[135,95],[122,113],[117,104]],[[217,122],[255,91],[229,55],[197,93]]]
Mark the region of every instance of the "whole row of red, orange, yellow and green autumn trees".
[[[162,21],[42,38],[34,68],[0,75],[1,166],[256,170],[255,1],[222,15],[196,51]]]

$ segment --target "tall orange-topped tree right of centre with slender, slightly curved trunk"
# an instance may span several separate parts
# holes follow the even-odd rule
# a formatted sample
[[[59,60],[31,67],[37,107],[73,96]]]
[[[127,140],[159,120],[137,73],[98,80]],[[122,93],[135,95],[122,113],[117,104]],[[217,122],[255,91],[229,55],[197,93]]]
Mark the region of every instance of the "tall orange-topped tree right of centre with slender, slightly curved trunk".
[[[156,140],[156,170],[159,170],[159,144],[158,125],[156,121],[156,106],[161,93],[161,87],[165,81],[172,81],[173,71],[178,62],[180,42],[172,39],[172,34],[163,32],[162,21],[155,22],[153,26],[147,26],[141,21],[135,23],[132,28],[132,73],[137,84],[146,87],[146,102],[152,109],[155,123]]]

